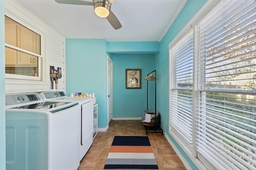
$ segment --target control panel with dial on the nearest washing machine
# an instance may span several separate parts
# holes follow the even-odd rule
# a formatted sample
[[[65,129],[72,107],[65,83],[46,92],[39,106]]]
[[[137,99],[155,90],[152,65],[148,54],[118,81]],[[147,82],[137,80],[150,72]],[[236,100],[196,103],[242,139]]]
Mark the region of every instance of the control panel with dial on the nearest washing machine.
[[[15,106],[20,104],[29,104],[34,102],[41,102],[41,98],[37,93],[18,93],[6,94],[5,106]]]

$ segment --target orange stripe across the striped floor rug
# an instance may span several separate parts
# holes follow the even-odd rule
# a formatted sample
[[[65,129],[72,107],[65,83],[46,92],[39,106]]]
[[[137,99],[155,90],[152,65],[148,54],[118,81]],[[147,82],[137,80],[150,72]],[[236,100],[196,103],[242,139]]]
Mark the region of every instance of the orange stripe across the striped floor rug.
[[[109,152],[152,153],[151,146],[111,146]]]

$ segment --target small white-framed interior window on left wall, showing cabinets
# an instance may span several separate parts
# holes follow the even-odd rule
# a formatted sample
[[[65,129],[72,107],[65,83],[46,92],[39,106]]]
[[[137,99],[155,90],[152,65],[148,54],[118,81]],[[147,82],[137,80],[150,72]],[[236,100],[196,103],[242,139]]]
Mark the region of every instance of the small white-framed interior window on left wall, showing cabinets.
[[[38,80],[40,42],[40,35],[5,16],[6,74],[22,75],[15,78]]]

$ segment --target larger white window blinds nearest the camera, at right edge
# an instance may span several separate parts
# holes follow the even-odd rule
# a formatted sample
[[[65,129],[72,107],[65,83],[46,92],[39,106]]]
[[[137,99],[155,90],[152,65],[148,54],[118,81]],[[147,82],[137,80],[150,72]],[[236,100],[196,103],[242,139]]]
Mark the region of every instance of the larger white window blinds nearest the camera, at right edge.
[[[226,0],[197,28],[197,158],[256,169],[256,2]]]

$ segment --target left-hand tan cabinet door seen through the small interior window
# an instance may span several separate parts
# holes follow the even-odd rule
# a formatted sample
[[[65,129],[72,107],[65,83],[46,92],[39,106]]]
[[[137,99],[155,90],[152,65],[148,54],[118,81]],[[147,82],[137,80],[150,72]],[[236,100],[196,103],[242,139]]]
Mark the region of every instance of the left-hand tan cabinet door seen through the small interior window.
[[[5,43],[17,47],[17,25],[13,23],[5,24]],[[5,65],[17,65],[17,51],[5,47]]]

